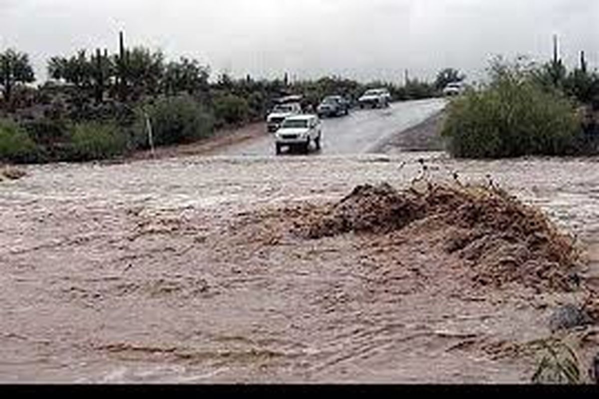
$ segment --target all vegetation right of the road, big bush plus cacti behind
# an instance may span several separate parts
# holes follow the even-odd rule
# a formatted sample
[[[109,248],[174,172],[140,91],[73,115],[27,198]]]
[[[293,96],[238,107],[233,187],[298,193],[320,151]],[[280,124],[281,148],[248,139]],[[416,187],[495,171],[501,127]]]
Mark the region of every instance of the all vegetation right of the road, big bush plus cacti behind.
[[[525,57],[497,57],[489,82],[450,103],[441,135],[456,157],[495,159],[597,152],[599,74],[584,53],[568,72],[557,52],[537,65]]]

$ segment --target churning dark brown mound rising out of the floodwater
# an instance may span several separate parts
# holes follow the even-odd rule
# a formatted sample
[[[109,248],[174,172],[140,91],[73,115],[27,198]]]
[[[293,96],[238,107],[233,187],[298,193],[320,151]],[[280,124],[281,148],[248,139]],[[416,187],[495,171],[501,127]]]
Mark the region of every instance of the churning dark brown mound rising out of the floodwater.
[[[580,254],[574,240],[538,209],[494,187],[429,182],[398,191],[389,184],[361,185],[339,202],[302,217],[295,231],[306,239],[387,234],[416,221],[419,229],[410,231],[410,237],[443,237],[443,251],[458,256],[477,285],[577,288]]]

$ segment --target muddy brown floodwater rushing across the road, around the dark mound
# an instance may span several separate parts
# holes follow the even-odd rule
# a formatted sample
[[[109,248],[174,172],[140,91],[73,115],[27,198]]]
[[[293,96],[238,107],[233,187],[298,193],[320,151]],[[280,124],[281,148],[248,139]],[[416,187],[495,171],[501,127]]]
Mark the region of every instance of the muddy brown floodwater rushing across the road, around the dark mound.
[[[576,234],[595,271],[597,159],[185,157],[0,182],[0,381],[526,383],[577,293],[477,288],[417,234],[302,239],[286,210],[356,185],[486,182]],[[289,211],[289,218],[293,218]],[[590,283],[589,283],[590,284]],[[599,334],[585,332],[583,362]]]

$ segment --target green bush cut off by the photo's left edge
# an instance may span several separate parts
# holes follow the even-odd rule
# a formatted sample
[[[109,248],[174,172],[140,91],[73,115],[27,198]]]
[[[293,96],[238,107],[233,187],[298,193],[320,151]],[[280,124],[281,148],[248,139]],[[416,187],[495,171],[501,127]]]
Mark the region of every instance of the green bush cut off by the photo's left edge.
[[[17,123],[0,120],[0,160],[2,162],[37,162],[38,148]]]

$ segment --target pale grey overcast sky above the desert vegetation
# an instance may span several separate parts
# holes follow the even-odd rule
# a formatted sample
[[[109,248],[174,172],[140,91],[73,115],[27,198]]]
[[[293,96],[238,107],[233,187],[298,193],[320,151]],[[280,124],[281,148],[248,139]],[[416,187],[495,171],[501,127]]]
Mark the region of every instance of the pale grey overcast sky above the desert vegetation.
[[[0,0],[0,50],[29,53],[38,78],[79,48],[161,48],[213,75],[358,80],[471,78],[492,54],[544,60],[558,34],[565,62],[599,66],[599,0]]]

